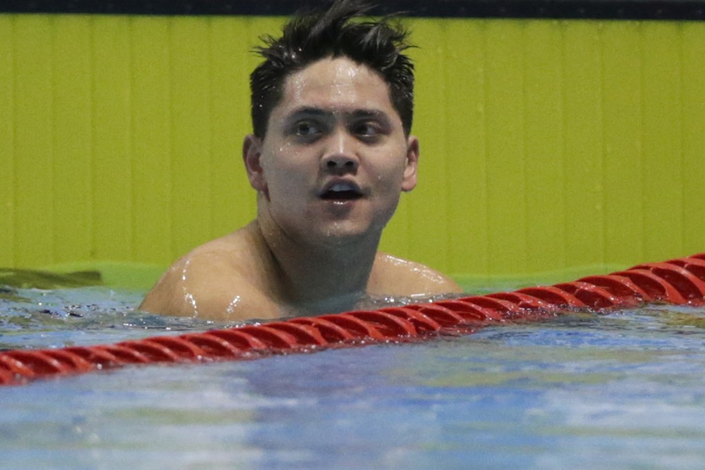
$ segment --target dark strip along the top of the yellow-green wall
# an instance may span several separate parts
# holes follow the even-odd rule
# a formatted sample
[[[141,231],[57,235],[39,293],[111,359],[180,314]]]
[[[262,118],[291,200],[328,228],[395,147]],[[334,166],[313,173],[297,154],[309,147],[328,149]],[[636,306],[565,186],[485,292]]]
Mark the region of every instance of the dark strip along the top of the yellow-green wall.
[[[705,0],[377,0],[427,18],[705,20]],[[0,0],[0,13],[288,16],[312,0]]]

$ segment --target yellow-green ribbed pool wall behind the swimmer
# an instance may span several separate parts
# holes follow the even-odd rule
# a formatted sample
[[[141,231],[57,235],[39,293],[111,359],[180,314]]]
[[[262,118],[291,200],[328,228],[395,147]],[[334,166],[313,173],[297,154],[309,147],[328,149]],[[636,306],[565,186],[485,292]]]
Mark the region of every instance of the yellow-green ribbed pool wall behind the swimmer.
[[[382,248],[517,276],[705,251],[705,23],[407,22],[419,187]],[[0,15],[0,266],[160,268],[247,223],[280,18]]]

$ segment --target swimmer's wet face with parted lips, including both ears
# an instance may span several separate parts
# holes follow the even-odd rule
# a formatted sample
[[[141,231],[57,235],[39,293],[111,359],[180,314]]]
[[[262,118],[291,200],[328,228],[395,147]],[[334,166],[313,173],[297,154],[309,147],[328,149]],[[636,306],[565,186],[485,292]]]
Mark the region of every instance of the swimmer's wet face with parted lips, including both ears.
[[[388,87],[348,58],[315,62],[284,83],[263,141],[245,139],[258,217],[309,242],[377,237],[416,185],[419,147]]]

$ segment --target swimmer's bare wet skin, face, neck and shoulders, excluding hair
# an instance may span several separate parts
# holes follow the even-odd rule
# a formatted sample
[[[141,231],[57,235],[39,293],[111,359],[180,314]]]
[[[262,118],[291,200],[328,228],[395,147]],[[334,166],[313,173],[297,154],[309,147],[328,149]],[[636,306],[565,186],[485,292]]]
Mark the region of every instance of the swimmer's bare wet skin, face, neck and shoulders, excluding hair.
[[[376,252],[400,193],[416,185],[419,144],[373,70],[327,58],[290,75],[243,159],[257,220],[177,261],[141,309],[262,319],[353,309],[367,294],[459,291]]]

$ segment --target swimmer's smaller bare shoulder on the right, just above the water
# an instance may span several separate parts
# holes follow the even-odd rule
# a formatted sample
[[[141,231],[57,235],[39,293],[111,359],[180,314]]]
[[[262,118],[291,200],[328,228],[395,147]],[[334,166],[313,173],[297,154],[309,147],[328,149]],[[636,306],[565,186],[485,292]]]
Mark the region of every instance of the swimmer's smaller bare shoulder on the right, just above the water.
[[[378,253],[367,289],[379,295],[436,295],[462,292],[453,279],[416,261]]]

